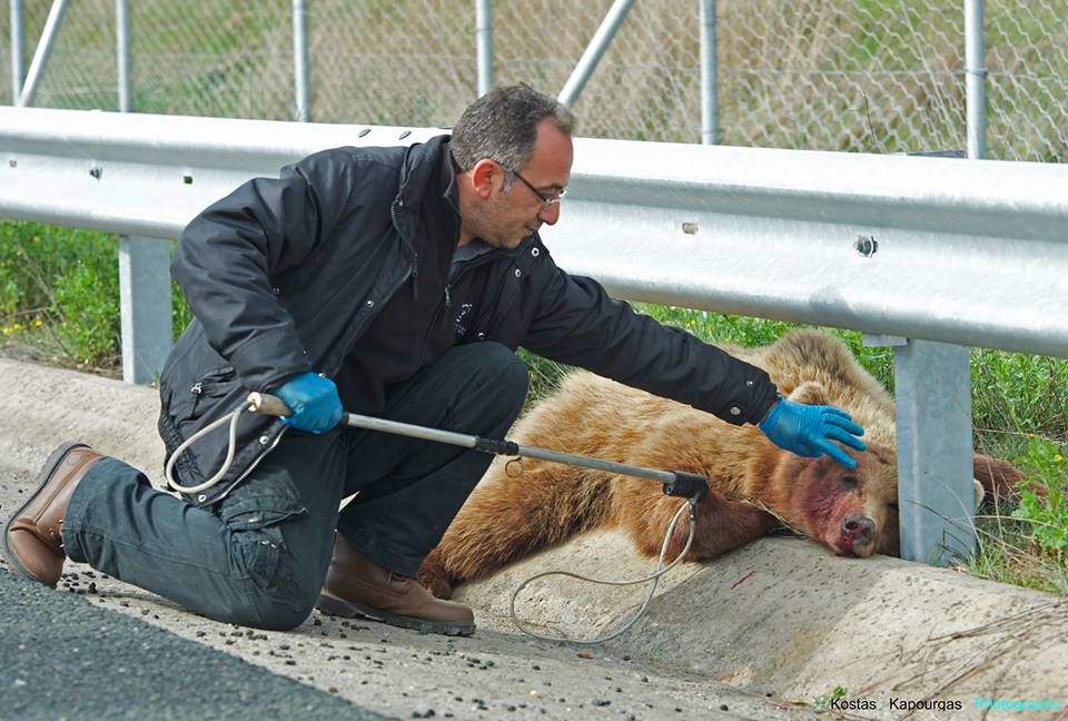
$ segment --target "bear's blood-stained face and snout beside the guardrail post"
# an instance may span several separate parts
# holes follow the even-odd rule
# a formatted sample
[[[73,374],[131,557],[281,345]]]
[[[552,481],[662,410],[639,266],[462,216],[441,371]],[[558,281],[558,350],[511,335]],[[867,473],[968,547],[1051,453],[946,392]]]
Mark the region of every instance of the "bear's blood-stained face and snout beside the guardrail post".
[[[848,453],[853,470],[828,456],[784,460],[792,491],[783,520],[839,555],[899,555],[897,458],[877,444]]]

